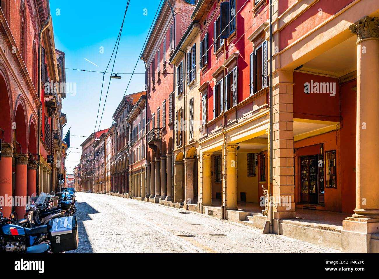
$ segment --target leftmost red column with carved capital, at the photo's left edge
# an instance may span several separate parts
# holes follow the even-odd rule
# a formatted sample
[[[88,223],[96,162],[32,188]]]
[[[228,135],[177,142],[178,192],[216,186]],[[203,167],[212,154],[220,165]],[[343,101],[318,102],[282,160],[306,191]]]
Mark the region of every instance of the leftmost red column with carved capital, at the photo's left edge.
[[[0,160],[0,196],[8,200],[12,196],[12,157],[13,145],[10,143],[2,143],[2,158]],[[12,207],[8,203],[3,204],[3,215],[9,217]],[[23,216],[20,216],[23,218]]]

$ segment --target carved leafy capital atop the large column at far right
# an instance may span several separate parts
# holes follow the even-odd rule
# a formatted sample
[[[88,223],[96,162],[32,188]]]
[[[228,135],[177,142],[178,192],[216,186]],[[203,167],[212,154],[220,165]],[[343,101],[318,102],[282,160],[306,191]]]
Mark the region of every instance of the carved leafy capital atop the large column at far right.
[[[357,34],[357,44],[364,39],[379,39],[379,18],[365,16],[349,26],[353,34]]]

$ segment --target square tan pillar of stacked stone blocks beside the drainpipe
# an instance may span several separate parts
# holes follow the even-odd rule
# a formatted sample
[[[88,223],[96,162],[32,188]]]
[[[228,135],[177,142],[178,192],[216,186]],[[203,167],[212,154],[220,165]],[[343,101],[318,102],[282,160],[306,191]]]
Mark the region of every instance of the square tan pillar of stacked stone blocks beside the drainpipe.
[[[293,160],[293,71],[278,70],[273,77],[273,217],[296,218]],[[269,161],[269,158],[267,158]],[[268,167],[269,173],[269,167]],[[285,201],[285,203],[282,203]],[[270,216],[268,212],[268,216]],[[277,222],[274,232],[277,231]]]

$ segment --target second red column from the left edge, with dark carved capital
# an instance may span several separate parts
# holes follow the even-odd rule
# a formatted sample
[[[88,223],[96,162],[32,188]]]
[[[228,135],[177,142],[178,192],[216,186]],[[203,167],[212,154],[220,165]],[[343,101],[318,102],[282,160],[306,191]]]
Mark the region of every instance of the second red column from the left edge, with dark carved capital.
[[[14,203],[15,211],[20,219],[25,215],[25,206],[27,204],[27,172],[28,172],[28,155],[14,154],[15,157],[15,186],[14,186]],[[8,216],[6,216],[8,217]]]

